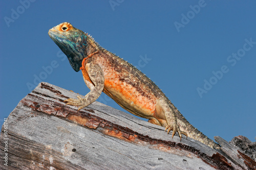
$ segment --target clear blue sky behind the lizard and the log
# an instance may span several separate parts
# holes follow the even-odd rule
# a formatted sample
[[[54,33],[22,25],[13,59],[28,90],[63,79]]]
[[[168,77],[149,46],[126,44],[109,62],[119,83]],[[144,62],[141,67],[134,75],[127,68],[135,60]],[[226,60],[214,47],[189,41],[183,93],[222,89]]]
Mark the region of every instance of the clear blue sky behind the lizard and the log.
[[[0,2],[1,125],[38,82],[89,92],[48,36],[67,21],[137,65],[209,138],[255,141],[256,1],[28,2]]]

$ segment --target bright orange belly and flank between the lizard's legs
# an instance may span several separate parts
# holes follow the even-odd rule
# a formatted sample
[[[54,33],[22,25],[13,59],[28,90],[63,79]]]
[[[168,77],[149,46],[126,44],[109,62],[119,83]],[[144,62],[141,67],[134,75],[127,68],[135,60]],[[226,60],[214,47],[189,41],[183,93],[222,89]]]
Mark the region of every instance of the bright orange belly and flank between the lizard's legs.
[[[125,110],[144,118],[151,118],[156,108],[156,96],[146,89],[124,80],[105,77],[104,93]]]

